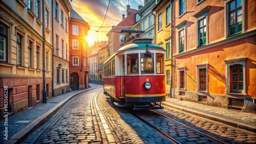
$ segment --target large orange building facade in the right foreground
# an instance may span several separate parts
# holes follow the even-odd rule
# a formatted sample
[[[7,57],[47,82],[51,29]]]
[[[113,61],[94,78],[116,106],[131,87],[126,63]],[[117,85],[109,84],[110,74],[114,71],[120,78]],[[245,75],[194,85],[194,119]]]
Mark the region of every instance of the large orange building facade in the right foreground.
[[[173,5],[172,97],[256,113],[256,2]]]

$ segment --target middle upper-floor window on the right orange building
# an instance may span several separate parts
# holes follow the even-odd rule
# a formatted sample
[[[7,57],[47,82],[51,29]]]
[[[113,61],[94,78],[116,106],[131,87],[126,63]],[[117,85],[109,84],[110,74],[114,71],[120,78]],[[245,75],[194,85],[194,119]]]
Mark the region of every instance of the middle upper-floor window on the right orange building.
[[[206,44],[206,17],[198,20],[198,43],[199,46]]]

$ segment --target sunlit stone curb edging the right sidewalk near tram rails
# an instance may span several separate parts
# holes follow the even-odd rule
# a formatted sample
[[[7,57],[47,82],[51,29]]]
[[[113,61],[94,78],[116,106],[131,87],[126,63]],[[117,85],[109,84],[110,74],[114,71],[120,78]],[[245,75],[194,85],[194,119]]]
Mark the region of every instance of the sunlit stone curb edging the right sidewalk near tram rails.
[[[225,125],[229,125],[229,126],[232,126],[232,127],[236,127],[236,128],[239,128],[239,129],[243,129],[243,130],[247,130],[247,131],[256,133],[256,127],[255,126],[250,126],[250,125],[247,125],[247,124],[232,121],[230,119],[222,118],[222,117],[215,116],[215,115],[206,114],[206,113],[203,113],[203,112],[198,112],[198,111],[195,111],[195,110],[185,109],[184,107],[180,107],[180,106],[176,106],[176,105],[172,105],[172,104],[168,104],[168,103],[164,103],[164,102],[162,102],[162,105],[165,105],[165,106],[168,106],[168,107],[171,107],[171,108],[174,108],[174,109],[178,109],[178,110],[181,110],[181,111],[193,114],[193,115],[197,115],[197,116],[200,116],[200,117],[203,117],[203,118],[207,118],[207,119],[210,119],[212,121],[223,123]]]

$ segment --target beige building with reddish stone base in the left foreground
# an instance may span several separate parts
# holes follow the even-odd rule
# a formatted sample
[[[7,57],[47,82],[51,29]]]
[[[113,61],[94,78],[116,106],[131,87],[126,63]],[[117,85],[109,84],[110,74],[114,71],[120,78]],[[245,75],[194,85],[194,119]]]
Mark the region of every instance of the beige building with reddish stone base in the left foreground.
[[[52,11],[49,8],[52,8],[49,1],[44,4],[0,2],[1,117],[7,112],[4,111],[6,100],[9,114],[16,114],[52,98]],[[4,91],[8,92],[7,98]]]

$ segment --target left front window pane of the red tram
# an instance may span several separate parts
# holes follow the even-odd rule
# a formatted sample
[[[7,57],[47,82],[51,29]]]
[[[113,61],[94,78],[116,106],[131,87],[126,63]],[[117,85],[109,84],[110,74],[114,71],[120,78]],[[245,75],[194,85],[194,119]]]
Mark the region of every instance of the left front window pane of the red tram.
[[[139,74],[138,54],[127,54],[127,75]]]

